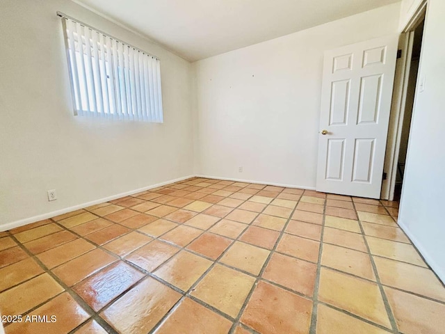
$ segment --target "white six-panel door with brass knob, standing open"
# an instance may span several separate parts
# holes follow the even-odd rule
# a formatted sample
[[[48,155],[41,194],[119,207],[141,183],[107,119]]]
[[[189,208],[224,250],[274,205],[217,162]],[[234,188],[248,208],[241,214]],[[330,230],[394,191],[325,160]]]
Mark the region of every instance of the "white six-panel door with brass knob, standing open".
[[[325,52],[317,191],[380,198],[398,36]]]

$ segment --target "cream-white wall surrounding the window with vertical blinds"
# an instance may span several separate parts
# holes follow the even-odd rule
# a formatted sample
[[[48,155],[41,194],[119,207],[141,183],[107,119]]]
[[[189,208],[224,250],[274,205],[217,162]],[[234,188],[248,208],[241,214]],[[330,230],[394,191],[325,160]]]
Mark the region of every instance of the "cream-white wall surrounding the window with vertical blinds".
[[[161,58],[164,124],[72,115],[57,10]],[[68,0],[1,0],[0,31],[0,230],[193,173],[190,63]]]

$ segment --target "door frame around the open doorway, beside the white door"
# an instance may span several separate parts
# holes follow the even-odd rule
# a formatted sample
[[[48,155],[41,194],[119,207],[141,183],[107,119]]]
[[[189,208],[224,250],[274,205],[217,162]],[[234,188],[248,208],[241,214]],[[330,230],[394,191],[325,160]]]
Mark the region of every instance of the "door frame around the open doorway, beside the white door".
[[[399,39],[399,49],[402,50],[402,56],[396,65],[396,75],[394,77],[393,100],[391,102],[387,150],[383,169],[385,173],[387,173],[387,180],[382,181],[382,191],[380,193],[382,200],[394,200],[398,154],[401,146],[403,117],[405,116],[407,87],[410,77],[414,30],[421,20],[426,17],[426,5],[427,0],[423,0],[420,3],[416,12],[407,23],[407,26],[405,26],[405,29],[401,32]]]

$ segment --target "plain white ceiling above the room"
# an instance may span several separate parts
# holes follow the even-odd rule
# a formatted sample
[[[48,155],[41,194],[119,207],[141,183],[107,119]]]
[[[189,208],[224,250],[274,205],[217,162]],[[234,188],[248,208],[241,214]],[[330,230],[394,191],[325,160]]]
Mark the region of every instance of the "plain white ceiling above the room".
[[[399,0],[74,1],[197,61]]]

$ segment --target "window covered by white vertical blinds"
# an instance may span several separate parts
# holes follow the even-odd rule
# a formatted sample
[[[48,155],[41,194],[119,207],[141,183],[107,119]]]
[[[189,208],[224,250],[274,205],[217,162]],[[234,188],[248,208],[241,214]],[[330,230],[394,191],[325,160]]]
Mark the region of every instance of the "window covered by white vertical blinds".
[[[74,115],[163,122],[158,58],[62,17]]]

